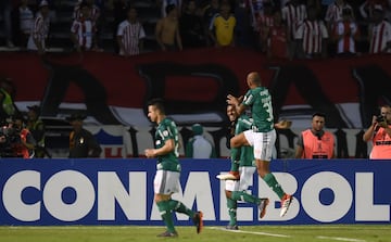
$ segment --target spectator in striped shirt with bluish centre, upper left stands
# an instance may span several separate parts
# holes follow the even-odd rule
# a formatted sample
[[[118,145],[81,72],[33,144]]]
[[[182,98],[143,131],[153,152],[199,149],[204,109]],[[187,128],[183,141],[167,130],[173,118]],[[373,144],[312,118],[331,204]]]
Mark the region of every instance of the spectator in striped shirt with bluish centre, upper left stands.
[[[77,52],[89,51],[92,48],[94,27],[90,18],[90,7],[87,2],[78,5],[80,14],[78,18],[73,21],[71,27],[71,40]]]

